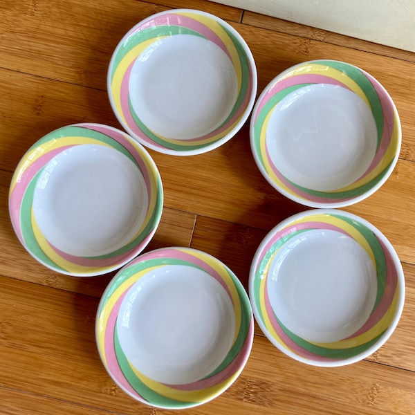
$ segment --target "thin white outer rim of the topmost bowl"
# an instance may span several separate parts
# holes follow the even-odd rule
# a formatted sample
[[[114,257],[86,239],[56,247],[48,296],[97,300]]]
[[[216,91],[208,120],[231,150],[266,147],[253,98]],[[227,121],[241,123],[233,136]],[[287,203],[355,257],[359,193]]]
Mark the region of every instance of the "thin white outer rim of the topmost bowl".
[[[168,15],[172,13],[193,13],[194,15],[201,15],[203,17],[208,17],[209,19],[212,19],[219,23],[221,26],[226,28],[226,30],[229,30],[230,33],[237,39],[239,44],[241,45],[241,48],[243,48],[243,51],[246,55],[246,58],[248,59],[248,67],[250,70],[250,78],[252,79],[252,91],[250,92],[250,98],[246,104],[246,109],[243,110],[243,113],[241,114],[239,120],[234,124],[234,127],[228,131],[228,133],[225,134],[225,136],[218,138],[217,140],[208,143],[207,145],[203,145],[197,149],[190,149],[190,150],[176,150],[176,149],[169,149],[168,147],[163,147],[160,145],[155,145],[152,140],[147,141],[143,140],[138,134],[134,133],[134,131],[131,130],[131,128],[128,126],[127,122],[124,122],[122,119],[122,116],[120,116],[120,113],[118,112],[116,105],[114,103],[113,99],[113,93],[111,88],[111,70],[113,68],[113,65],[116,60],[116,55],[120,48],[122,48],[122,45],[124,42],[129,39],[129,37],[136,31],[136,29],[141,26],[142,24],[145,24],[147,21],[151,21],[152,19],[156,19],[159,16]],[[243,127],[243,124],[248,120],[252,108],[254,107],[256,95],[257,95],[257,89],[258,89],[258,74],[257,74],[257,65],[255,63],[254,56],[252,55],[252,51],[250,50],[250,47],[246,43],[246,40],[243,39],[242,35],[233,28],[230,24],[228,24],[227,21],[221,19],[220,17],[217,17],[209,12],[203,12],[201,10],[196,10],[192,8],[176,8],[176,9],[169,9],[169,10],[163,10],[162,12],[157,12],[154,15],[150,15],[148,17],[145,17],[145,19],[142,19],[137,24],[135,24],[132,28],[130,28],[127,33],[120,39],[118,42],[116,48],[113,50],[113,53],[111,55],[111,59],[109,61],[108,70],[107,70],[107,95],[109,97],[109,102],[111,104],[111,109],[113,113],[115,114],[118,122],[122,125],[122,128],[125,129],[129,133],[129,135],[136,141],[140,142],[140,144],[144,145],[145,147],[148,147],[149,149],[152,149],[154,151],[158,151],[163,154],[169,154],[172,156],[194,156],[197,154],[203,154],[208,151],[211,151],[213,149],[216,149],[220,147],[221,145],[225,144],[225,142],[228,142],[231,138],[233,138],[239,130]],[[177,142],[181,142],[181,140],[176,140]]]

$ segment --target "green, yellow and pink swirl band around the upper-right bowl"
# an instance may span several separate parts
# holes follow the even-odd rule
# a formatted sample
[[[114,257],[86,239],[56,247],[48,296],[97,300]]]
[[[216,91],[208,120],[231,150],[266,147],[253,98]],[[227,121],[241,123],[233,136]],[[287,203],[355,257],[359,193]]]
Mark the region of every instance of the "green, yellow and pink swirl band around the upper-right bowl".
[[[332,84],[356,93],[371,109],[378,130],[376,154],[367,171],[351,185],[331,192],[308,189],[289,181],[273,163],[266,142],[270,116],[277,104],[290,93],[311,84]],[[314,203],[349,201],[382,183],[398,158],[400,122],[387,91],[365,71],[343,62],[312,61],[295,66],[261,96],[252,118],[252,144],[266,174],[286,194],[302,200]]]

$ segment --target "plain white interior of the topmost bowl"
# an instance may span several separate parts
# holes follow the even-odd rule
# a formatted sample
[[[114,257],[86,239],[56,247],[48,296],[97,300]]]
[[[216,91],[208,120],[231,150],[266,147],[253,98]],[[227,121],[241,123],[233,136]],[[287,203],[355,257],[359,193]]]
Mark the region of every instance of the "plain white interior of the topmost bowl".
[[[194,35],[153,42],[134,62],[129,79],[138,118],[154,133],[177,140],[214,131],[228,118],[237,93],[228,55]]]

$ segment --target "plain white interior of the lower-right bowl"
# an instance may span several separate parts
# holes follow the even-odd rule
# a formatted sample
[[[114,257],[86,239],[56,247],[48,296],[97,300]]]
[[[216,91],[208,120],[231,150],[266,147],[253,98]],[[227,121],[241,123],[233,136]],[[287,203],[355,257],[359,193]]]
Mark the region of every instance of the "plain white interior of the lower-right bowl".
[[[351,237],[306,230],[278,250],[267,289],[275,315],[308,342],[335,342],[365,324],[376,302],[376,269]]]

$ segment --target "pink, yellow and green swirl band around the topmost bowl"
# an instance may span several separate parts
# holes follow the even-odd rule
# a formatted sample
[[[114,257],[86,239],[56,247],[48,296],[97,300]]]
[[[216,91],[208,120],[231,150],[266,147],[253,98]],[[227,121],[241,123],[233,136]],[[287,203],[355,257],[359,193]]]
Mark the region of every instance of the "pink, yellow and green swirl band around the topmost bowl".
[[[210,40],[228,55],[237,76],[237,100],[228,118],[214,132],[190,140],[174,140],[148,129],[129,99],[129,77],[138,56],[154,42],[175,35],[193,35]],[[224,24],[199,12],[168,12],[144,21],[120,43],[111,59],[109,94],[116,112],[120,114],[120,122],[143,142],[174,151],[191,151],[212,145],[237,127],[246,116],[252,91],[256,89],[255,75],[256,71],[251,67],[241,40]]]

